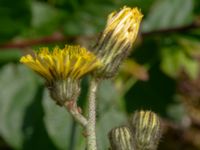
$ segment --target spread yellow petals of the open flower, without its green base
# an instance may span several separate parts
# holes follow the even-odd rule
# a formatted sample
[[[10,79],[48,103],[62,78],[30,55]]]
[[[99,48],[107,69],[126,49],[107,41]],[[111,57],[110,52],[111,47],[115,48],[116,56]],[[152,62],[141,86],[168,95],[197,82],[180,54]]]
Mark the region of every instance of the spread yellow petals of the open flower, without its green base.
[[[91,52],[80,46],[55,47],[49,51],[40,48],[34,56],[26,55],[20,62],[36,71],[47,81],[56,79],[79,79],[86,73],[101,66],[101,62]]]

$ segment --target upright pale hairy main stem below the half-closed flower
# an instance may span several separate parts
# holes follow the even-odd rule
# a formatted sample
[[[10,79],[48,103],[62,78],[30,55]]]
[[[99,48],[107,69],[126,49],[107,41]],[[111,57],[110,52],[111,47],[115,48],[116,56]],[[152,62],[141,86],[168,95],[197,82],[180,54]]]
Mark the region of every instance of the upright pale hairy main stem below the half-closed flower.
[[[97,150],[96,144],[96,92],[99,82],[92,79],[89,89],[89,110],[88,110],[88,124],[87,131],[87,149]]]

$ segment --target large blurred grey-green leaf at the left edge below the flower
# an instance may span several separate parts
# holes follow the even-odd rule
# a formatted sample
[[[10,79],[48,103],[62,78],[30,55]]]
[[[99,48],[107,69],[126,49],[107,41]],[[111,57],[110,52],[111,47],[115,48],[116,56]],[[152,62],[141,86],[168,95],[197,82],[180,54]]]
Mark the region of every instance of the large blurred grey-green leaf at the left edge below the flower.
[[[23,117],[34,99],[37,82],[26,68],[10,64],[0,71],[0,83],[0,134],[12,147],[22,149]]]

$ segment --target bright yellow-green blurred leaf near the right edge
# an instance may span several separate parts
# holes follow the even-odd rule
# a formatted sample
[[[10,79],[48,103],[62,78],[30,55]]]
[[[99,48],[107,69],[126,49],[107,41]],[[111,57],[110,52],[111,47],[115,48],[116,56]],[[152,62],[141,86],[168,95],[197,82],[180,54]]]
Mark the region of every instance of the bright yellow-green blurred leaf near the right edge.
[[[177,78],[182,71],[185,71],[192,79],[198,75],[198,62],[188,57],[184,48],[170,47],[161,51],[161,68],[169,76]]]

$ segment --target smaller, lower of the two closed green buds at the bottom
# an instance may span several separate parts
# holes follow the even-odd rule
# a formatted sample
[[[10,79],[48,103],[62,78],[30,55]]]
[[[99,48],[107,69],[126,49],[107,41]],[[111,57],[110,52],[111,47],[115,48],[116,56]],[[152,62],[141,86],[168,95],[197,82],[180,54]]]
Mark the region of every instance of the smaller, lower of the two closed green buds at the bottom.
[[[111,150],[133,150],[131,130],[126,127],[114,128],[109,132]]]

